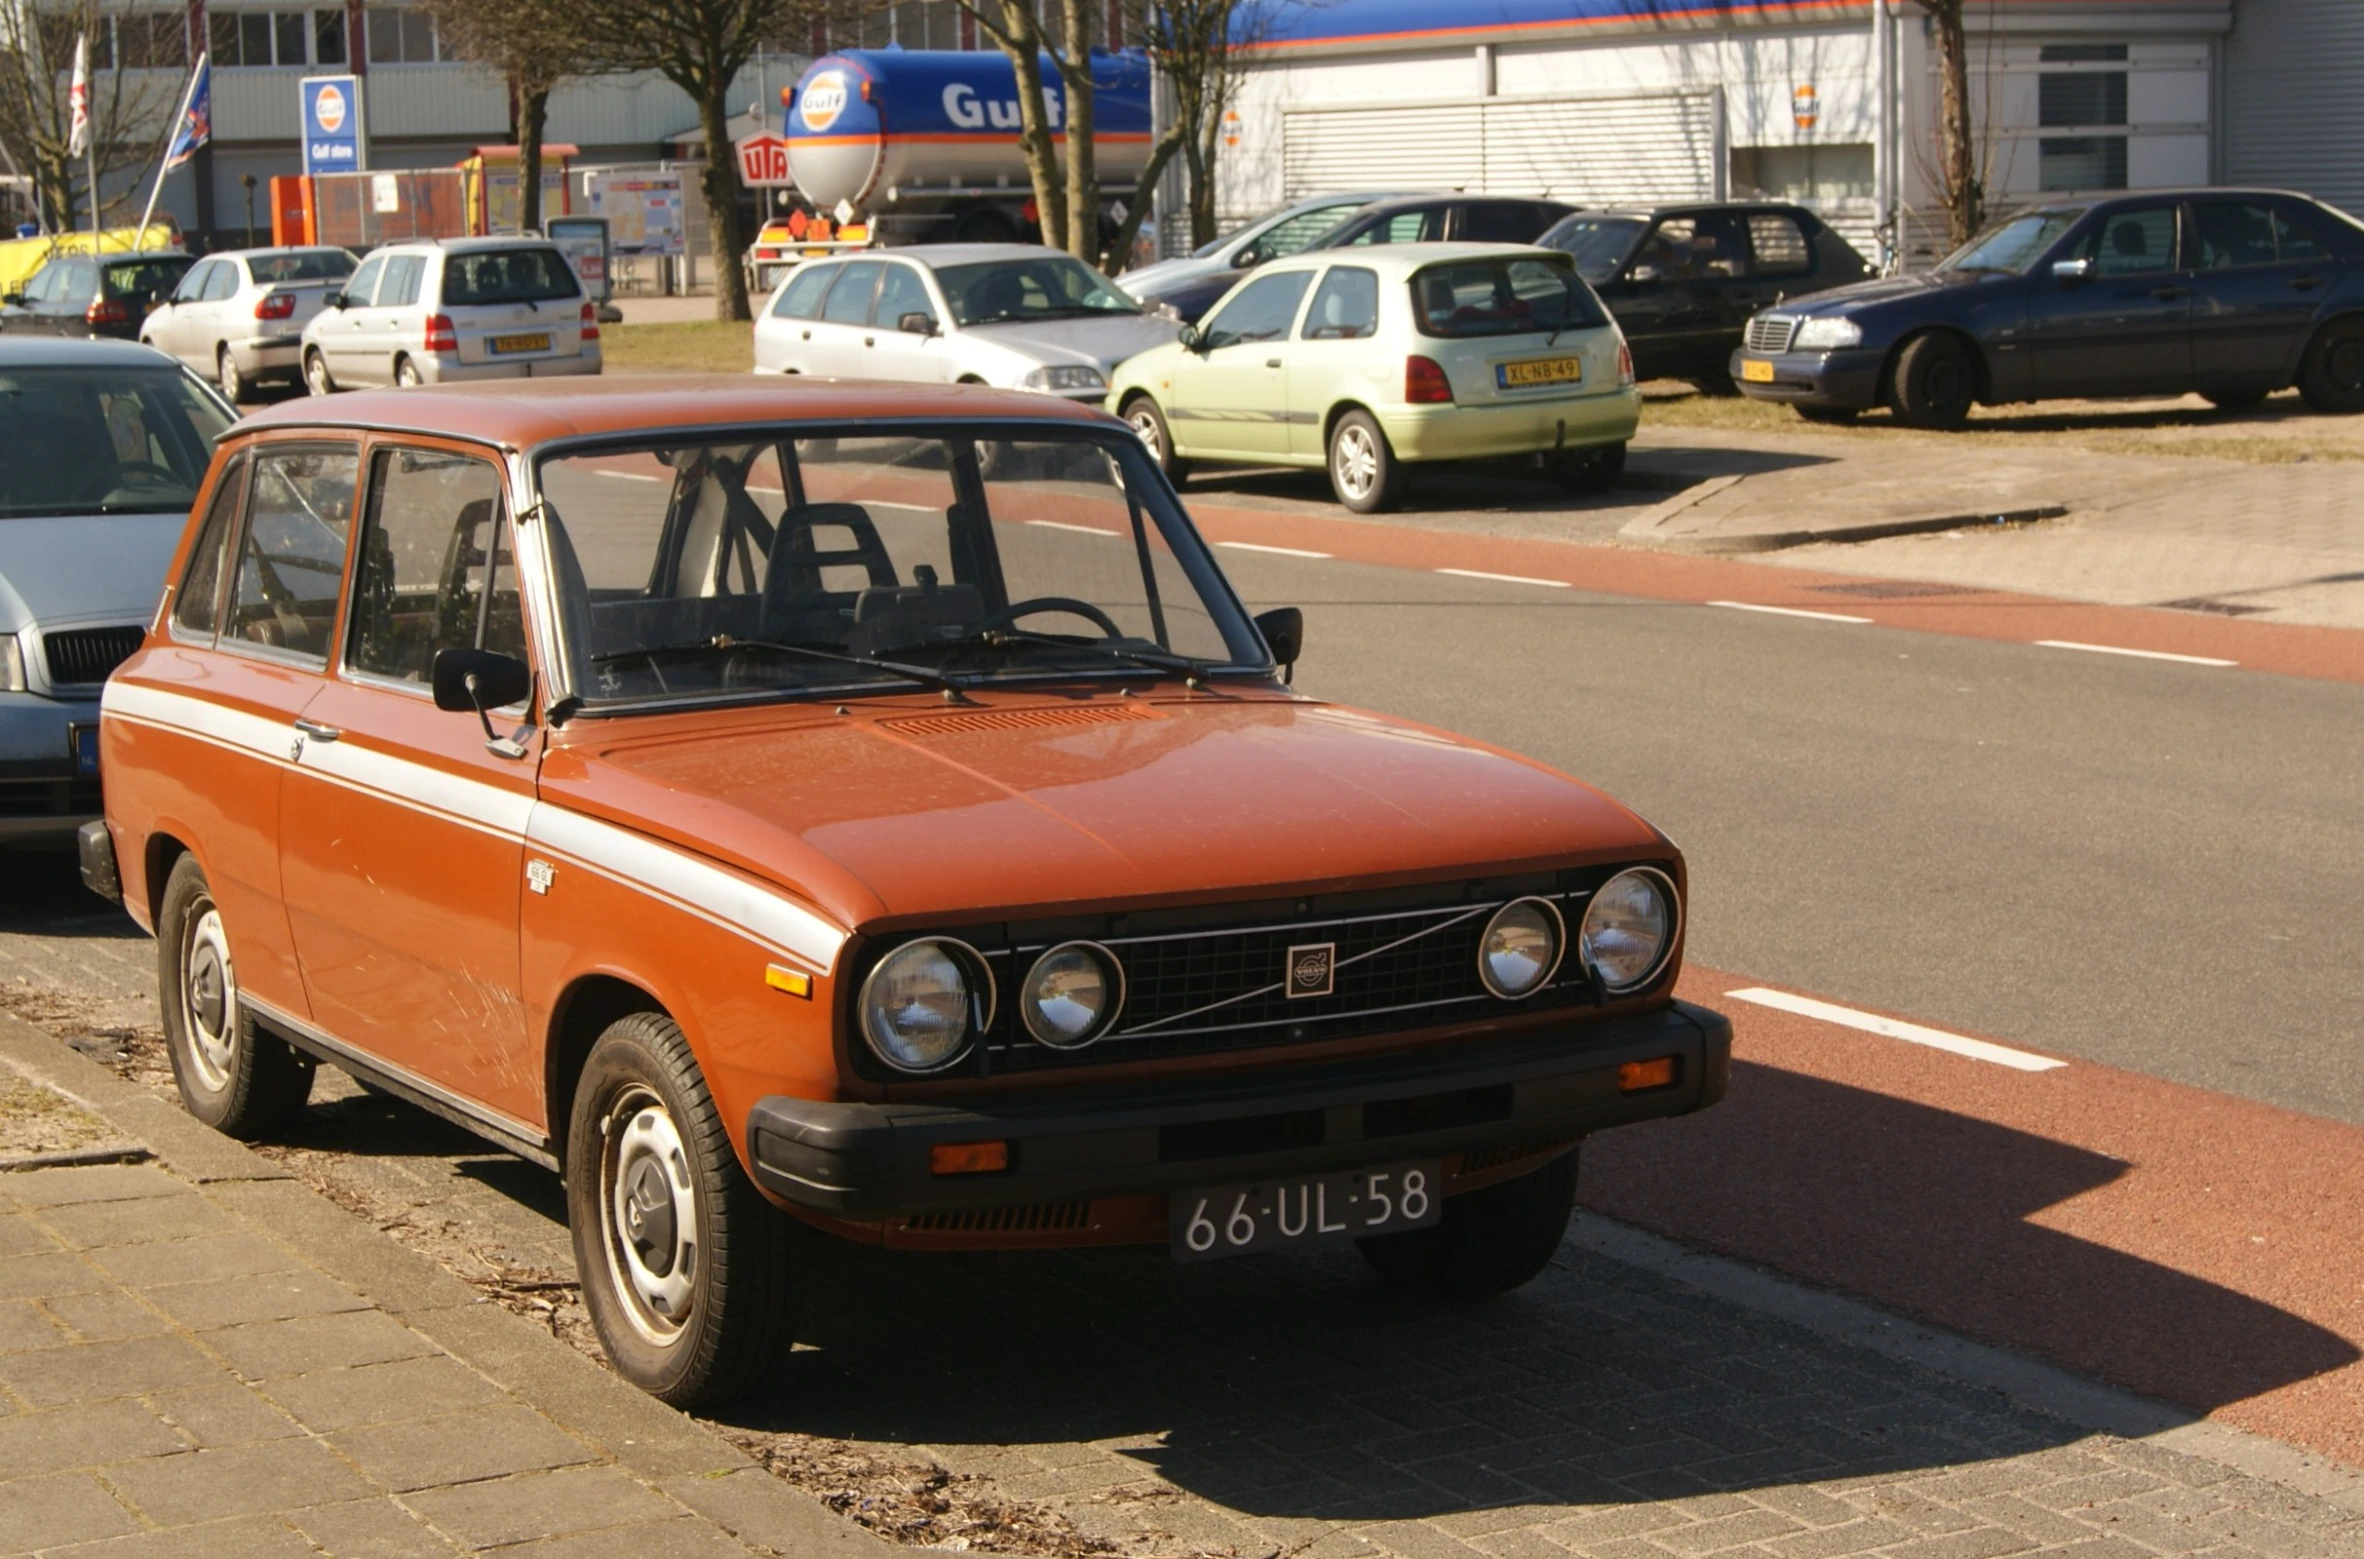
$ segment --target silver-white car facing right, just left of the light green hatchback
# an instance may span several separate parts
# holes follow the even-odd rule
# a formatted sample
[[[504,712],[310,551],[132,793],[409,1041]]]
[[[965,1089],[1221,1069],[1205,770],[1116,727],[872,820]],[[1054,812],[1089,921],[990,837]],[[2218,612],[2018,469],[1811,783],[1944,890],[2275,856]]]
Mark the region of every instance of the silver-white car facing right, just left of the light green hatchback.
[[[756,374],[991,383],[1097,402],[1180,324],[1035,244],[917,244],[811,260],[754,326]]]

